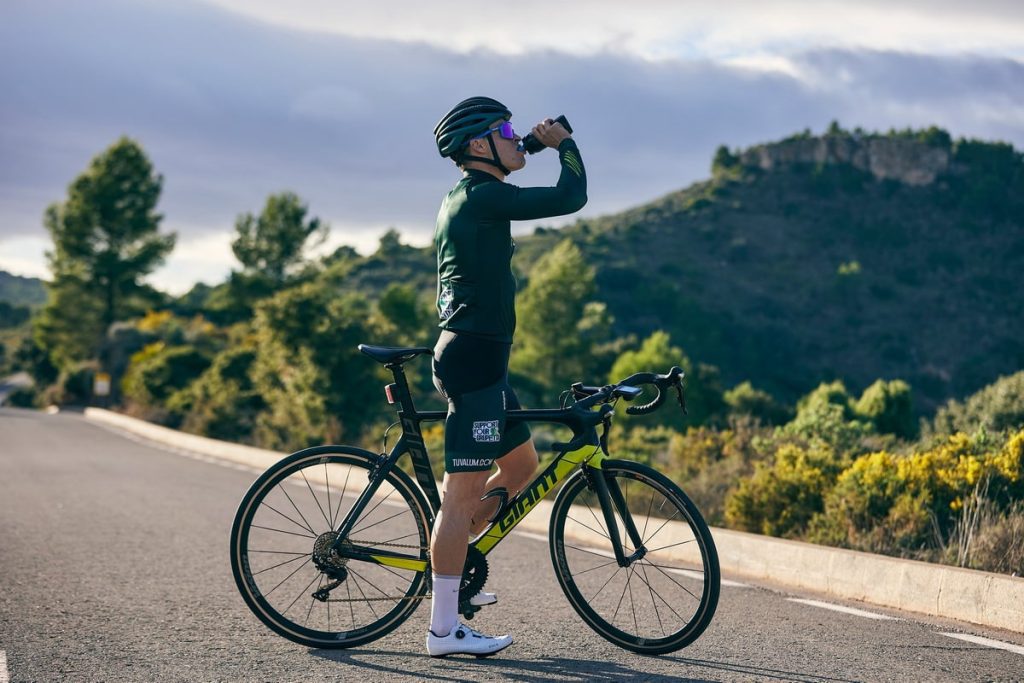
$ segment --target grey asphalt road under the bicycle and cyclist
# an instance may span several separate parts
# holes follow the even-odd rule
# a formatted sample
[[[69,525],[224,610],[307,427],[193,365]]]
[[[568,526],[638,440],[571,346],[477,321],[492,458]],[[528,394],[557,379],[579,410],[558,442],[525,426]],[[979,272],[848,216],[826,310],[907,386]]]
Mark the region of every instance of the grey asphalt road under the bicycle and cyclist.
[[[580,621],[532,535],[490,555],[501,601],[472,623],[514,634],[502,654],[431,659],[422,607],[373,645],[310,650],[263,627],[231,579],[229,526],[255,476],[79,415],[0,409],[0,683],[1024,680],[1024,634],[753,585],[724,586],[688,648],[633,654]]]

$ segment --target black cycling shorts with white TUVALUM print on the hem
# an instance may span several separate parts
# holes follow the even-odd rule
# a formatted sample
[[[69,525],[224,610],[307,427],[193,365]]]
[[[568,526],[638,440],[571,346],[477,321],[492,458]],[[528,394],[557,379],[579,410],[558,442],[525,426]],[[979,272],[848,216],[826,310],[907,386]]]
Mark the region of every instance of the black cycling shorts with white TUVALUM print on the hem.
[[[505,412],[519,410],[508,381],[511,346],[480,337],[441,332],[434,346],[434,386],[447,398],[444,471],[479,472],[529,440],[519,422],[506,429]]]

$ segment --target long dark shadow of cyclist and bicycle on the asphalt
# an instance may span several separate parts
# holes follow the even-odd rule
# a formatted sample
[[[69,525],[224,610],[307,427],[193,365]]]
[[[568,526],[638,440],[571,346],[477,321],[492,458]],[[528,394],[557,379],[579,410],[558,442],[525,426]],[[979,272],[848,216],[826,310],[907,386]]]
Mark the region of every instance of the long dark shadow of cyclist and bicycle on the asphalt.
[[[719,680],[721,672],[742,674],[757,680],[795,681],[799,683],[821,683],[846,681],[846,679],[828,678],[813,674],[779,671],[763,667],[733,664],[729,661],[713,661],[709,659],[688,659],[683,657],[659,656],[660,661],[673,661],[679,665],[682,672],[693,670],[713,670],[715,679],[684,677],[680,674],[656,674],[646,670],[642,665],[630,667],[617,661],[601,661],[587,659],[568,659],[564,657],[544,657],[540,659],[516,660],[508,656],[498,655],[496,658],[477,659],[466,656],[431,659],[422,652],[402,652],[388,650],[309,650],[312,656],[322,657],[362,669],[368,680],[373,680],[373,673],[378,675],[391,674],[417,678],[424,681],[465,681],[472,676],[482,676],[487,679],[511,679],[528,681],[530,683],[548,683],[549,681],[678,681],[681,683],[708,683],[709,680]],[[634,655],[627,655],[634,656]],[[401,664],[393,664],[395,660]],[[441,670],[441,666],[443,669]],[[706,672],[707,673],[707,672]]]

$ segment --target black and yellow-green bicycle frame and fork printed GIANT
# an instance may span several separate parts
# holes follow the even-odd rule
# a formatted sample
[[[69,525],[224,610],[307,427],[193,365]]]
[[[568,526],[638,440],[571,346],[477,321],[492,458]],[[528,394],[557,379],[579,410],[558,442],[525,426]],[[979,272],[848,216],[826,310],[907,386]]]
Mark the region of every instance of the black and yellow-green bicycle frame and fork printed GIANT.
[[[393,397],[394,402],[398,404],[397,412],[402,428],[402,435],[394,447],[391,449],[391,452],[387,456],[382,455],[378,461],[377,466],[371,473],[367,488],[364,489],[338,526],[338,538],[334,542],[333,549],[339,556],[345,558],[375,562],[400,569],[426,571],[429,568],[429,562],[418,557],[381,548],[359,547],[353,546],[348,542],[343,543],[355,520],[362,513],[362,510],[376,494],[377,488],[384,481],[387,473],[394,467],[401,456],[407,453],[412,459],[417,482],[430,503],[432,515],[428,521],[431,524],[433,523],[433,517],[436,517],[440,509],[440,496],[437,490],[437,482],[434,480],[433,471],[430,468],[430,460],[427,455],[426,445],[423,442],[420,423],[440,421],[445,419],[447,414],[440,411],[417,412],[401,365],[389,364],[385,367],[394,375],[395,382],[389,385],[387,389],[389,398]],[[574,434],[577,433],[577,427],[580,426],[579,416],[570,409],[509,411],[506,421],[509,424],[519,422],[563,424],[573,428]],[[489,553],[555,486],[568,478],[577,468],[583,468],[584,475],[592,477],[591,481],[594,484],[601,509],[604,513],[605,523],[611,536],[611,545],[615,554],[615,560],[621,566],[629,566],[633,561],[643,557],[646,550],[643,547],[640,533],[633,523],[632,515],[627,509],[622,492],[618,490],[615,484],[609,486],[604,476],[600,474],[601,464],[606,459],[606,454],[602,445],[596,442],[596,439],[591,440],[595,442],[588,441],[587,446],[592,446],[593,451],[585,446],[577,451],[563,451],[559,453],[554,461],[537,475],[529,484],[511,498],[503,509],[499,510],[500,516],[470,546],[476,548],[483,555]],[[590,453],[587,453],[588,451]],[[615,523],[614,517],[616,512],[625,523],[633,547],[637,549],[629,557],[626,556],[622,540],[618,538],[618,526]]]

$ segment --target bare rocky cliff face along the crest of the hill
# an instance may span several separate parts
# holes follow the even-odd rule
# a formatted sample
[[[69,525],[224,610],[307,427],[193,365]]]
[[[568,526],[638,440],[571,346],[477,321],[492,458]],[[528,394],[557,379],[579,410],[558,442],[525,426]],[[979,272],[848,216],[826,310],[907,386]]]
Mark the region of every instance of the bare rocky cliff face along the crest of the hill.
[[[927,185],[949,171],[951,153],[914,139],[824,135],[763,144],[740,154],[744,166],[766,171],[794,164],[850,164],[879,180]]]

